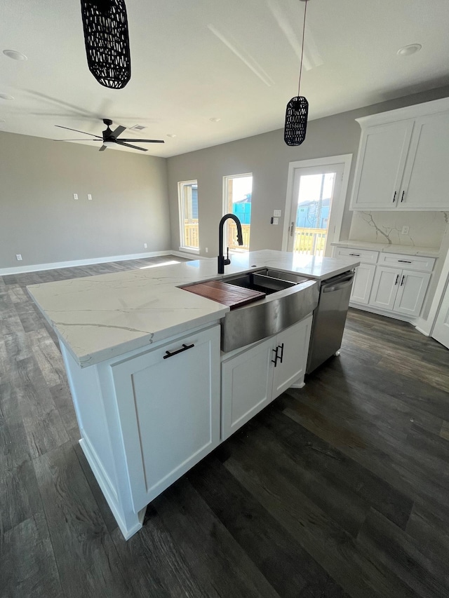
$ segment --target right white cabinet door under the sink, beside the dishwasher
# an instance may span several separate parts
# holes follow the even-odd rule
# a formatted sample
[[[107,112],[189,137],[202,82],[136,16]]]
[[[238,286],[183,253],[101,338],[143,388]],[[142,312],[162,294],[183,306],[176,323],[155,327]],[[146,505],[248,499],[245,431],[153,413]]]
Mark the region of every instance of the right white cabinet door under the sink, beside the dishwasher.
[[[279,332],[276,337],[276,346],[280,357],[276,367],[273,368],[272,397],[274,399],[290,388],[293,383],[304,380],[307,353],[309,353],[311,320],[312,317],[309,315],[301,322]]]

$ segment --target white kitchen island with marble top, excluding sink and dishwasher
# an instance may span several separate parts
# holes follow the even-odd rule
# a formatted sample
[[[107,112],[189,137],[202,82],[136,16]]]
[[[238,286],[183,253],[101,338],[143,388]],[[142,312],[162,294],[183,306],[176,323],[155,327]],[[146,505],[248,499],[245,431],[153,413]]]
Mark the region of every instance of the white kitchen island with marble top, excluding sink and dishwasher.
[[[220,320],[229,307],[179,287],[269,267],[311,279],[301,292],[318,297],[321,280],[357,265],[263,250],[233,256],[224,275],[217,275],[216,259],[201,259],[28,287],[60,339],[80,444],[125,538],[140,529],[161,491],[304,378],[316,302],[282,338],[223,354]],[[272,351],[283,361],[272,348],[278,344],[292,350],[274,370]],[[236,366],[245,360],[255,367],[246,377],[260,388],[244,397],[256,390],[262,396],[235,421],[223,397],[235,398],[229,376],[238,379]]]

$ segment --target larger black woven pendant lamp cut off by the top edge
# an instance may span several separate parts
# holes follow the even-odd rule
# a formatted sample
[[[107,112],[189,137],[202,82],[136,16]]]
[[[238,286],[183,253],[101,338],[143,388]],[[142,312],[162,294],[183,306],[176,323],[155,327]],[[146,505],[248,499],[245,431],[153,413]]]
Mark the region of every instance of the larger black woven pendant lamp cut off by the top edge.
[[[121,89],[131,78],[125,0],[81,0],[88,67],[98,83]]]

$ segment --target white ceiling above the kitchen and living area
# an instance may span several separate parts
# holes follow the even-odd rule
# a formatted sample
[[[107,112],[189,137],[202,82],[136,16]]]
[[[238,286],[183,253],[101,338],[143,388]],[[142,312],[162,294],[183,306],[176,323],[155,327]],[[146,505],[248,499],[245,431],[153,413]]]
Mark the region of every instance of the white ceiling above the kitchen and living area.
[[[15,100],[0,100],[0,130],[71,139],[83,135],[54,125],[101,135],[102,118],[112,118],[147,127],[122,137],[165,140],[142,145],[142,155],[175,156],[283,128],[297,95],[304,6],[126,0],[132,75],[110,90],[88,71],[79,0],[1,0],[0,93]],[[301,83],[309,119],[448,84],[448,29],[448,0],[309,0]],[[410,43],[422,50],[396,54]]]

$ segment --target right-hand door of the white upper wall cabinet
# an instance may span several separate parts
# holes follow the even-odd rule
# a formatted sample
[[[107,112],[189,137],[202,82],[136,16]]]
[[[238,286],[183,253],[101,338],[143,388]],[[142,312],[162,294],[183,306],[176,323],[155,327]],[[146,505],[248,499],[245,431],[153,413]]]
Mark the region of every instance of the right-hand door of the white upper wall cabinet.
[[[403,176],[400,210],[449,208],[449,113],[415,120]]]

